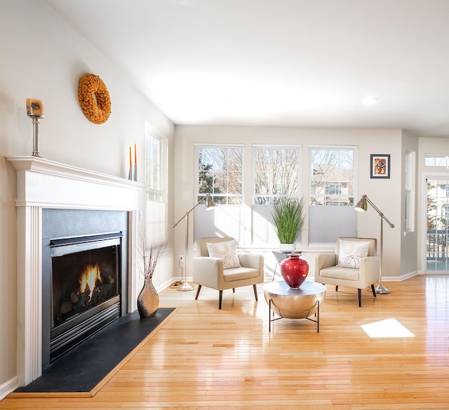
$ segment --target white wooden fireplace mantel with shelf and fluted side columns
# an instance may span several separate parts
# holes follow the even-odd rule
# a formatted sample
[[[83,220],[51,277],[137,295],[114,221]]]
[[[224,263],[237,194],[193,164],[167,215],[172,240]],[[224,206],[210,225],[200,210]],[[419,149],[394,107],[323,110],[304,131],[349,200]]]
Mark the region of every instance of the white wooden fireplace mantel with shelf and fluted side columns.
[[[40,157],[6,159],[17,171],[17,371],[19,385],[27,385],[42,373],[42,209],[129,211],[130,310],[135,299],[139,196],[145,185]]]

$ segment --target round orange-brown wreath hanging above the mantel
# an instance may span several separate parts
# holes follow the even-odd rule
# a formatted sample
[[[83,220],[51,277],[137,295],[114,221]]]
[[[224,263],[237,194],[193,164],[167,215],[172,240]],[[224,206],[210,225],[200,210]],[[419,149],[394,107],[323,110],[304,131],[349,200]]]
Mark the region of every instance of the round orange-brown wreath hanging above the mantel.
[[[111,114],[111,98],[105,83],[95,74],[79,79],[78,99],[86,118],[93,124],[103,124]]]

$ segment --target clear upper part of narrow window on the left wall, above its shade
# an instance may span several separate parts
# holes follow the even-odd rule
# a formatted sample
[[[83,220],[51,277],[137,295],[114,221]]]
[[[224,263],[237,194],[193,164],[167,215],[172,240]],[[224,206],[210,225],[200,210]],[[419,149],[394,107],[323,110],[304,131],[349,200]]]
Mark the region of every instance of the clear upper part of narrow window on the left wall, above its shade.
[[[145,183],[148,199],[163,199],[163,147],[165,138],[147,129],[145,133]]]

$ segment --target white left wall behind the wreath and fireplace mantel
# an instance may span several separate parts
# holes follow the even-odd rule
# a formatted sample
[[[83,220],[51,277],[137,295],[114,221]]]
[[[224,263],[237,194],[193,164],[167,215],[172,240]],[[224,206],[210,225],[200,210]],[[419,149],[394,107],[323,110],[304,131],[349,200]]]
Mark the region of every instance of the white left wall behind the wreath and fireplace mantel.
[[[128,177],[129,145],[137,143],[138,159],[144,158],[145,121],[168,138],[169,152],[173,152],[174,128],[43,1],[0,0],[0,10],[1,399],[16,383],[15,171],[5,156],[32,153],[32,124],[25,110],[26,98],[44,103],[42,157],[112,176]],[[111,96],[112,114],[105,124],[92,124],[79,107],[79,79],[88,72],[105,81]],[[143,161],[140,164],[142,180]],[[168,185],[172,183],[170,172]],[[173,190],[168,192],[171,204]],[[143,214],[151,214],[145,198],[141,202]],[[173,213],[171,205],[167,213]],[[142,220],[140,225],[144,224]],[[159,282],[172,277],[170,269],[159,274]]]

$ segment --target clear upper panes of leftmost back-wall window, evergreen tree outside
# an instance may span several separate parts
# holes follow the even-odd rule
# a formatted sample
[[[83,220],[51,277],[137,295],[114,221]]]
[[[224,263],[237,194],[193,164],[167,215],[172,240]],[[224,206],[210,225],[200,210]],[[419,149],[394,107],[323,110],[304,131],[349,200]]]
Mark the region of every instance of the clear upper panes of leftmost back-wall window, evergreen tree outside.
[[[215,204],[243,201],[243,147],[198,146],[198,200],[210,194]]]

